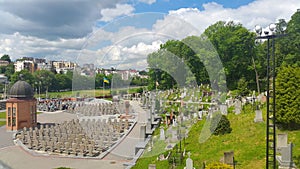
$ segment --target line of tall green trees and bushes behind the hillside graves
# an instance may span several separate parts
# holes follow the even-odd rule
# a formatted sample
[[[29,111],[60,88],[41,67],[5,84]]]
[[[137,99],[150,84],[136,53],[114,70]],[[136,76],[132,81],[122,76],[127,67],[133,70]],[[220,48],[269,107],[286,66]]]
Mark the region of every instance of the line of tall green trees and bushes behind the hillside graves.
[[[280,33],[280,19],[275,34]],[[275,42],[277,122],[282,127],[300,128],[300,11],[287,23],[286,35]],[[249,96],[266,90],[267,42],[257,41],[256,33],[240,23],[219,21],[202,35],[169,40],[148,55],[150,90],[171,89],[183,85],[210,84]],[[217,59],[222,69],[218,69]],[[184,63],[184,64],[181,64]],[[216,72],[219,71],[219,72]],[[212,80],[211,74],[225,78]],[[216,84],[215,84],[216,83]],[[218,88],[215,88],[219,90]]]

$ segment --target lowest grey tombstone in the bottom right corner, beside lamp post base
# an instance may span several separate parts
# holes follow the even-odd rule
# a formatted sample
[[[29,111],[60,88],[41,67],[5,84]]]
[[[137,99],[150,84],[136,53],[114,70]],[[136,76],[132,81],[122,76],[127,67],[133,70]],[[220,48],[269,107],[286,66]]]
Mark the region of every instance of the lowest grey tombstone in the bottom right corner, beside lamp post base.
[[[279,169],[292,169],[296,168],[296,165],[293,162],[293,143],[287,145],[287,147],[282,147],[281,156],[276,156],[279,162]]]

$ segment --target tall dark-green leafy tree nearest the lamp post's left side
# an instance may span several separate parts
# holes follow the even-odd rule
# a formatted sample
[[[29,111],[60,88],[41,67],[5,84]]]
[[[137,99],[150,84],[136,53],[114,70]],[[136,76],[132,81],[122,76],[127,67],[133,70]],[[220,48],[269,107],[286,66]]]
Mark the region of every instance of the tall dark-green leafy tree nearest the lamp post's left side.
[[[255,34],[232,21],[219,21],[209,26],[204,34],[218,51],[228,88],[236,89],[242,77],[248,82],[249,89],[256,88],[255,72],[251,68]]]

